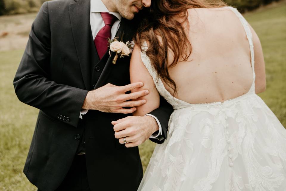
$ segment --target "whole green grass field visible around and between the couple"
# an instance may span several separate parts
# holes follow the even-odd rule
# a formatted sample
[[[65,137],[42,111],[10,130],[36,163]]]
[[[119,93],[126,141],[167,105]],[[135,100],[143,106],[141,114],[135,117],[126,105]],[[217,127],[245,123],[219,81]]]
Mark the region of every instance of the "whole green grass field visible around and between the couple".
[[[286,126],[286,2],[280,2],[245,18],[257,32],[264,51],[267,90],[259,96]],[[0,190],[36,190],[23,174],[38,110],[18,101],[13,78],[23,54],[21,50],[0,52]],[[144,169],[155,144],[140,146]]]

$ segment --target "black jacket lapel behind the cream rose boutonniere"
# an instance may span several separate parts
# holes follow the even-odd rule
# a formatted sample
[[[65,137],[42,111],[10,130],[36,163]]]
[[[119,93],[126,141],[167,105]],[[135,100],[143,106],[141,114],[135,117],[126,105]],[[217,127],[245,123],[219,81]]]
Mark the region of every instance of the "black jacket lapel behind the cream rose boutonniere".
[[[122,18],[122,20],[120,22],[120,27],[119,27],[116,35],[115,35],[115,37],[117,37],[117,36],[119,37],[118,38],[119,41],[126,42],[128,40],[129,41],[132,40],[133,33],[132,33],[132,31],[128,30],[127,22],[128,22],[128,20],[124,19],[124,18]],[[123,34],[123,33],[124,33],[124,36],[123,36],[123,40],[122,40],[120,38],[121,38],[121,34]],[[108,58],[108,60],[107,60],[107,62],[105,64],[105,67],[103,68],[102,73],[101,73],[97,83],[95,84],[94,89],[97,89],[97,88],[99,88],[99,87],[101,87],[101,86],[103,86],[105,84],[106,79],[108,78],[112,68],[114,67],[114,64],[112,63],[112,60],[113,60],[115,55],[116,55],[115,52],[111,52],[111,56],[109,56],[109,58]],[[118,58],[118,59],[120,59],[120,58]]]

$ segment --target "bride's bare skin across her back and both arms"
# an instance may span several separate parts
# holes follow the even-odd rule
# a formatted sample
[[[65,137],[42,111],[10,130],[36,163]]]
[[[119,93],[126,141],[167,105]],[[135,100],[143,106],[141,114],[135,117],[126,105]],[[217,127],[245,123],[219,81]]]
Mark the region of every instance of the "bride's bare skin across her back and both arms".
[[[224,102],[248,92],[253,81],[251,54],[242,23],[228,7],[189,9],[186,34],[192,44],[189,61],[178,62],[168,69],[177,85],[175,97],[188,103]],[[256,93],[265,90],[265,67],[262,48],[254,30]],[[172,61],[172,54],[169,52]],[[138,63],[140,50],[135,47],[131,63],[131,82],[142,81],[150,94],[147,104],[135,115],[144,115],[158,107],[159,94],[144,64]],[[170,64],[170,63],[169,63]],[[162,80],[163,81],[163,80]],[[164,82],[163,82],[164,83]],[[173,94],[173,89],[164,83]],[[149,103],[148,103],[149,102]]]

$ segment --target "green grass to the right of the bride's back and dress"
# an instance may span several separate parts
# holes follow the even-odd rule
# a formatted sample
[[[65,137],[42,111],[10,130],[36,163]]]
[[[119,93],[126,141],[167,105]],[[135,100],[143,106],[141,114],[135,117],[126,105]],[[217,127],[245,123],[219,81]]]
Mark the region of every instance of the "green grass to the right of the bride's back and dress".
[[[267,90],[259,96],[286,127],[286,2],[245,14],[260,38]]]

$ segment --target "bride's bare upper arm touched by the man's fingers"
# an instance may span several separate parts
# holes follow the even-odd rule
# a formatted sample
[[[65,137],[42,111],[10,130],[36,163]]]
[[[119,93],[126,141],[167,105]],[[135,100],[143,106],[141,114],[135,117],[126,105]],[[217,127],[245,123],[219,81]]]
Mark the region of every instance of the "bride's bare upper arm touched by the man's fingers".
[[[130,80],[131,83],[141,81],[144,83],[144,86],[134,89],[132,92],[149,90],[149,94],[139,98],[145,99],[146,104],[136,107],[137,110],[133,113],[134,116],[144,116],[157,109],[160,105],[159,93],[155,87],[152,76],[142,62],[140,51],[139,47],[135,45],[130,61]]]

